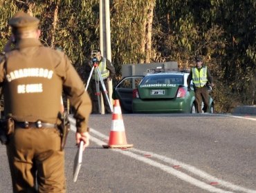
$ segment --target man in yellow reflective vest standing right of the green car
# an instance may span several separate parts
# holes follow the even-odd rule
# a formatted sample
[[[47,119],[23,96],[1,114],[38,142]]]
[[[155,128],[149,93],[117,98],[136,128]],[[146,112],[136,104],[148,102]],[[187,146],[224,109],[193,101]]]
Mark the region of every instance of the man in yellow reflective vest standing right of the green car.
[[[196,98],[196,112],[202,113],[202,102],[204,104],[204,112],[209,111],[209,92],[208,85],[213,86],[212,76],[207,66],[203,65],[202,57],[196,57],[196,66],[190,70],[187,79],[188,92],[190,92],[190,82],[193,81],[194,95]]]

